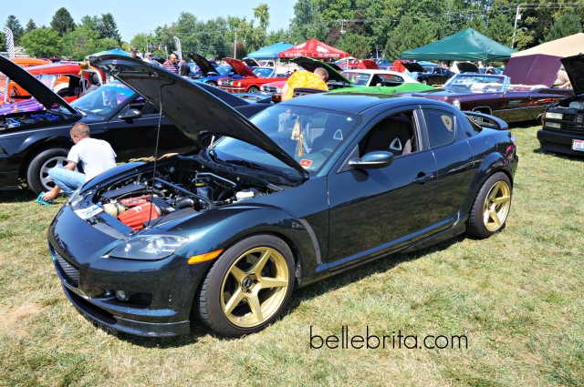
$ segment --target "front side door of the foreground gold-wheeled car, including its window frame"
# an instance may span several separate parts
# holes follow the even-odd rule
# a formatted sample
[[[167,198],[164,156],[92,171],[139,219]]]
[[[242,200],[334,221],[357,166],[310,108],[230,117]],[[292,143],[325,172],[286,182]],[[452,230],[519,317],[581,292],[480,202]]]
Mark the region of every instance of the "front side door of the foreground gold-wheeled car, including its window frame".
[[[409,153],[396,155],[385,168],[352,168],[328,177],[331,270],[423,237],[433,209],[436,162],[433,152],[422,148],[416,110],[408,107],[379,117],[363,131],[353,150],[366,152],[370,133],[387,119],[407,117],[413,136]]]

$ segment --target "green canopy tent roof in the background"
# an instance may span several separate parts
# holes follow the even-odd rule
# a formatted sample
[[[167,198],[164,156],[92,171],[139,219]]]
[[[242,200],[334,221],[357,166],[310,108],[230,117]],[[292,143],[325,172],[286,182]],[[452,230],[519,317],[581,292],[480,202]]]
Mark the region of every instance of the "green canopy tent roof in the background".
[[[516,50],[474,31],[473,28],[446,36],[426,46],[401,53],[401,59],[468,60],[493,62],[508,60]]]

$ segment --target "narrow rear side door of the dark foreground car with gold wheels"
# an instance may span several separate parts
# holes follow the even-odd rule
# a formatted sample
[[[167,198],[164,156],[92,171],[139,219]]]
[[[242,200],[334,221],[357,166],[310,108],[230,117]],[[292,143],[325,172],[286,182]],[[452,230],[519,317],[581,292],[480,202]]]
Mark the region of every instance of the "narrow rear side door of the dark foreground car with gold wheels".
[[[433,209],[428,224],[432,232],[446,229],[459,219],[459,210],[474,178],[473,152],[464,138],[460,112],[448,107],[422,109],[422,126],[437,165]],[[426,139],[424,138],[424,141]]]

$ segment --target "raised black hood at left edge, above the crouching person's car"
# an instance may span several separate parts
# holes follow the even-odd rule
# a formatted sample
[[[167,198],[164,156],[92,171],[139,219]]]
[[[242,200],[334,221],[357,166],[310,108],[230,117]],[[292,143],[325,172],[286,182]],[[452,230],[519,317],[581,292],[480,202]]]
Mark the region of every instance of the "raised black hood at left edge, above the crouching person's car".
[[[78,111],[71,107],[65,99],[59,97],[57,93],[45,86],[35,76],[32,76],[24,68],[16,65],[16,63],[5,56],[0,56],[0,72],[15,81],[18,86],[24,88],[43,107],[50,109],[57,105],[67,109],[76,116],[80,116]],[[2,87],[5,86],[2,85]]]

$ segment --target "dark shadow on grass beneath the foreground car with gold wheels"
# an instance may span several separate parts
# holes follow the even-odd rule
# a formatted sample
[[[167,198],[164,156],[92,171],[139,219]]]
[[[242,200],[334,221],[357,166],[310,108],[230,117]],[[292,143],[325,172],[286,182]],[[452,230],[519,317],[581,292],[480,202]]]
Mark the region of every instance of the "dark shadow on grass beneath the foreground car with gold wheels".
[[[310,300],[314,297],[318,297],[332,290],[337,290],[339,288],[349,285],[352,282],[370,277],[373,274],[391,270],[402,262],[417,260],[427,254],[431,254],[439,250],[448,249],[450,246],[464,239],[465,239],[464,235],[459,235],[452,239],[444,240],[443,242],[437,243],[427,248],[423,248],[421,250],[383,256],[377,260],[372,260],[363,263],[359,267],[354,267],[349,270],[343,271],[342,273],[334,275],[333,277],[330,277],[326,280],[321,280],[318,281],[317,283],[310,284],[306,288],[297,290],[295,293],[292,294],[290,303],[288,304],[287,308],[280,313],[280,316],[286,316],[287,314],[293,312],[303,301]],[[214,333],[214,331],[211,331],[200,321],[192,322],[192,329],[194,333],[184,336],[162,338],[133,336],[126,333],[113,331],[108,327],[103,327],[93,321],[91,322],[97,327],[99,327],[101,330],[107,331],[108,333],[115,335],[120,340],[128,341],[131,344],[138,345],[144,348],[166,349],[183,347],[184,345],[193,344],[199,341],[200,338],[205,337],[207,335],[211,335],[223,341],[234,340]]]

